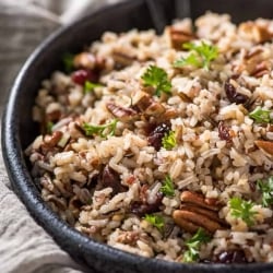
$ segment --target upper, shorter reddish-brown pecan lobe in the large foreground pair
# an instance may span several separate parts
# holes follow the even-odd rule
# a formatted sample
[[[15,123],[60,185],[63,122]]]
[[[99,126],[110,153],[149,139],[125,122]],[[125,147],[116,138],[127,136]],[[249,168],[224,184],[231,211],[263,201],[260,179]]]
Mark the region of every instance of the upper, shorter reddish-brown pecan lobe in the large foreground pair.
[[[205,207],[211,211],[218,211],[215,199],[205,199],[203,195],[191,191],[183,191],[180,195],[180,200],[189,202],[201,207]],[[213,202],[212,202],[213,201]]]

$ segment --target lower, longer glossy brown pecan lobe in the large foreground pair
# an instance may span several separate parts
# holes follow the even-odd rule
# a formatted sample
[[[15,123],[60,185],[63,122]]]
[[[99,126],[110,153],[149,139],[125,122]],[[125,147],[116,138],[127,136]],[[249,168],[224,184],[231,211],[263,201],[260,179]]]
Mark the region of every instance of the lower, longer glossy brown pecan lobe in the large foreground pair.
[[[177,210],[174,211],[173,218],[175,223],[179,225],[181,228],[185,228],[185,226],[181,225],[180,221],[182,218],[195,224],[199,227],[203,227],[210,233],[215,233],[217,229],[222,229],[222,226],[217,222],[210,219],[207,216],[201,215],[195,212]]]

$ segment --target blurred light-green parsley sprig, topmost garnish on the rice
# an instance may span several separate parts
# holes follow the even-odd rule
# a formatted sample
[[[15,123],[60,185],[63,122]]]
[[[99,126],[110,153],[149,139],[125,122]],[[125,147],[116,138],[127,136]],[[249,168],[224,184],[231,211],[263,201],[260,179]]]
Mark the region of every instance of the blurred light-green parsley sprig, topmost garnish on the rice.
[[[181,58],[174,62],[176,68],[183,66],[193,66],[197,68],[210,69],[210,63],[218,57],[218,48],[201,41],[200,45],[194,43],[185,43],[182,46],[185,49],[189,49],[190,54],[187,58]]]

